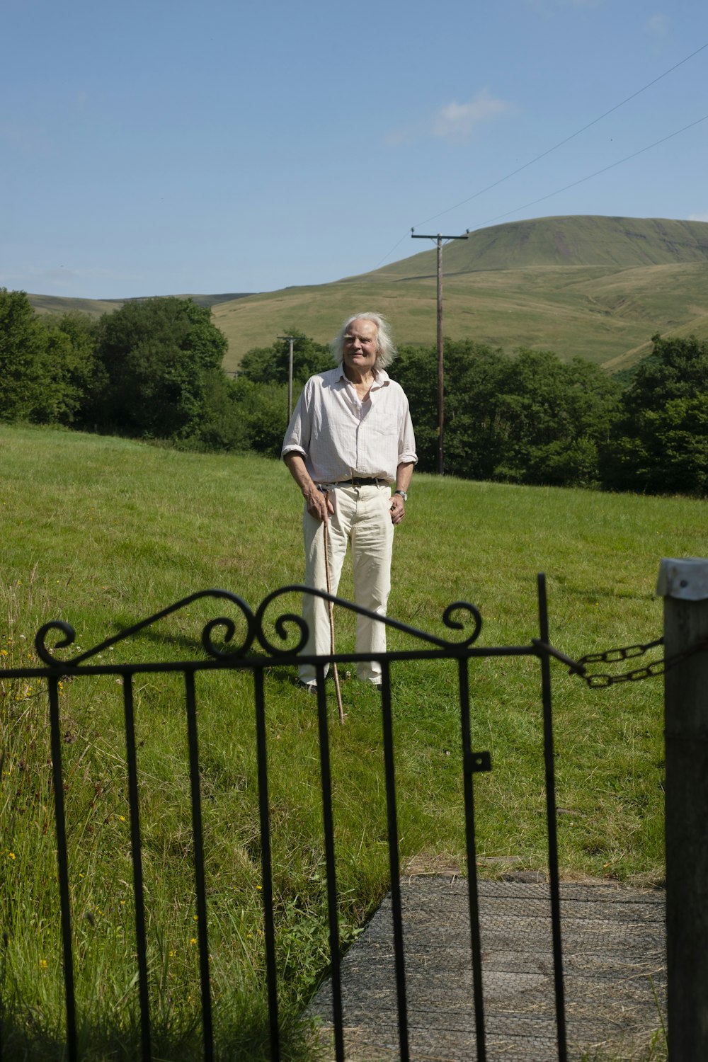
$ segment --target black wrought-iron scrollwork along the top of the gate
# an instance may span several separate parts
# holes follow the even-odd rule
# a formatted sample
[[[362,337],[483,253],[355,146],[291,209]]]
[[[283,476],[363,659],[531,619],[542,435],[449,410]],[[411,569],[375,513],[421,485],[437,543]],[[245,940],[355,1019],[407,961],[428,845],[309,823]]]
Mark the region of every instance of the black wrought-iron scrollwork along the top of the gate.
[[[267,597],[263,599],[255,614],[252,612],[243,598],[238,597],[236,594],[231,594],[230,590],[198,590],[196,594],[190,594],[189,597],[183,598],[180,601],[169,605],[167,609],[162,609],[161,612],[157,612],[153,616],[149,616],[139,623],[135,623],[133,627],[128,627],[126,630],[121,631],[120,634],[117,634],[111,638],[106,638],[106,640],[102,641],[100,645],[94,646],[92,649],[88,649],[70,660],[59,660],[54,656],[53,653],[57,649],[65,649],[68,646],[73,645],[76,639],[76,632],[69,623],[64,622],[64,620],[51,620],[50,622],[45,623],[44,627],[37,631],[34,643],[35,649],[39,658],[50,667],[76,667],[90,657],[103,652],[105,649],[109,649],[113,646],[118,645],[120,641],[124,641],[125,639],[133,637],[140,631],[145,630],[145,628],[165,619],[167,616],[171,616],[174,613],[179,612],[182,609],[186,609],[194,601],[202,598],[215,598],[218,600],[230,601],[237,606],[245,619],[246,633],[240,645],[234,645],[232,640],[237,631],[237,626],[234,619],[229,616],[218,616],[210,619],[202,631],[201,639],[202,646],[209,656],[219,661],[228,661],[234,656],[245,656],[256,643],[265,650],[269,656],[292,656],[301,652],[307,644],[309,632],[307,623],[303,617],[293,612],[286,612],[276,616],[274,620],[271,620],[270,628],[275,630],[275,633],[278,635],[281,643],[287,644],[286,646],[274,645],[271,638],[266,635],[263,624],[266,618],[266,610],[274,601],[286,594],[298,593],[310,594],[313,597],[322,598],[324,601],[331,601],[333,604],[339,605],[342,609],[347,609],[349,612],[353,612],[357,615],[367,616],[369,619],[378,620],[392,630],[401,631],[404,634],[409,634],[412,637],[426,641],[428,645],[434,646],[438,649],[465,649],[477,640],[482,629],[482,617],[480,616],[479,611],[473,604],[469,604],[467,601],[453,601],[452,604],[449,604],[443,613],[443,622],[451,631],[464,631],[468,622],[471,622],[472,624],[471,633],[468,633],[466,638],[463,638],[460,641],[452,641],[437,637],[434,634],[429,634],[426,631],[419,631],[414,627],[409,627],[407,623],[401,623],[399,620],[392,619],[388,616],[380,616],[378,613],[355,604],[352,601],[346,601],[344,598],[334,597],[331,594],[327,594],[325,590],[316,590],[309,586],[294,584],[291,586],[282,586],[277,590],[273,590],[272,594],[269,594]],[[219,632],[220,637],[214,639],[217,632]],[[51,638],[52,635],[56,636],[57,634],[61,635],[59,640]],[[50,639],[51,645],[48,645],[48,640]],[[222,646],[227,646],[228,648],[222,648]]]

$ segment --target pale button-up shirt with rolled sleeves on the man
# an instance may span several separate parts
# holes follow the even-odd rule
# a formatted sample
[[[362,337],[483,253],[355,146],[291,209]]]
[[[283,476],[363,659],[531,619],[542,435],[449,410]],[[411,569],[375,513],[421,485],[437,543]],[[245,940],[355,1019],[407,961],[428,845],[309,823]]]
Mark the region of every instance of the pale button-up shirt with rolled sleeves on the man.
[[[398,465],[418,460],[403,389],[380,369],[362,402],[343,364],[311,376],[286,431],[288,453],[301,455],[315,483],[352,476],[395,483]]]

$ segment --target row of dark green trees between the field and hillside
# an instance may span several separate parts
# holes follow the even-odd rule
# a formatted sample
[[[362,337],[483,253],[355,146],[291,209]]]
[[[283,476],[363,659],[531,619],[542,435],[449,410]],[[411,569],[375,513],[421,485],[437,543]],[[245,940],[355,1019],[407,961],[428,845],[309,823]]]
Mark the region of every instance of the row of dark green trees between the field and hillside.
[[[297,333],[295,398],[332,365]],[[0,289],[0,419],[64,425],[205,451],[277,457],[287,422],[289,344],[222,367],[226,339],[191,299],[125,303],[91,319],[36,314]],[[624,384],[582,359],[472,340],[445,343],[445,470],[466,479],[708,496],[708,343],[653,337]],[[402,346],[392,376],[408,394],[419,468],[437,452],[434,346]]]

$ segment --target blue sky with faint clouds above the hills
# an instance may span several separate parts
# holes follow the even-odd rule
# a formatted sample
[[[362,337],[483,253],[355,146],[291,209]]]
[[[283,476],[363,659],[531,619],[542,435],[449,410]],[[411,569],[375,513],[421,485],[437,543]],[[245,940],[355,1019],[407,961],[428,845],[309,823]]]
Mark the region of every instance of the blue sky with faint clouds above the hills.
[[[417,254],[412,227],[708,221],[705,0],[0,0],[0,14],[11,290],[274,291]]]

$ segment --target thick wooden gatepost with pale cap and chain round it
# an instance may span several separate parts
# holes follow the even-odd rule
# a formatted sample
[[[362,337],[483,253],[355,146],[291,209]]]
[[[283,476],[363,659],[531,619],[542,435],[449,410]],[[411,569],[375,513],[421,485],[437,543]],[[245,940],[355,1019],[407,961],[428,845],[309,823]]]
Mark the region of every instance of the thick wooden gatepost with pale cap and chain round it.
[[[708,560],[663,560],[667,661],[708,638]],[[669,1059],[708,1059],[708,649],[664,673]]]

